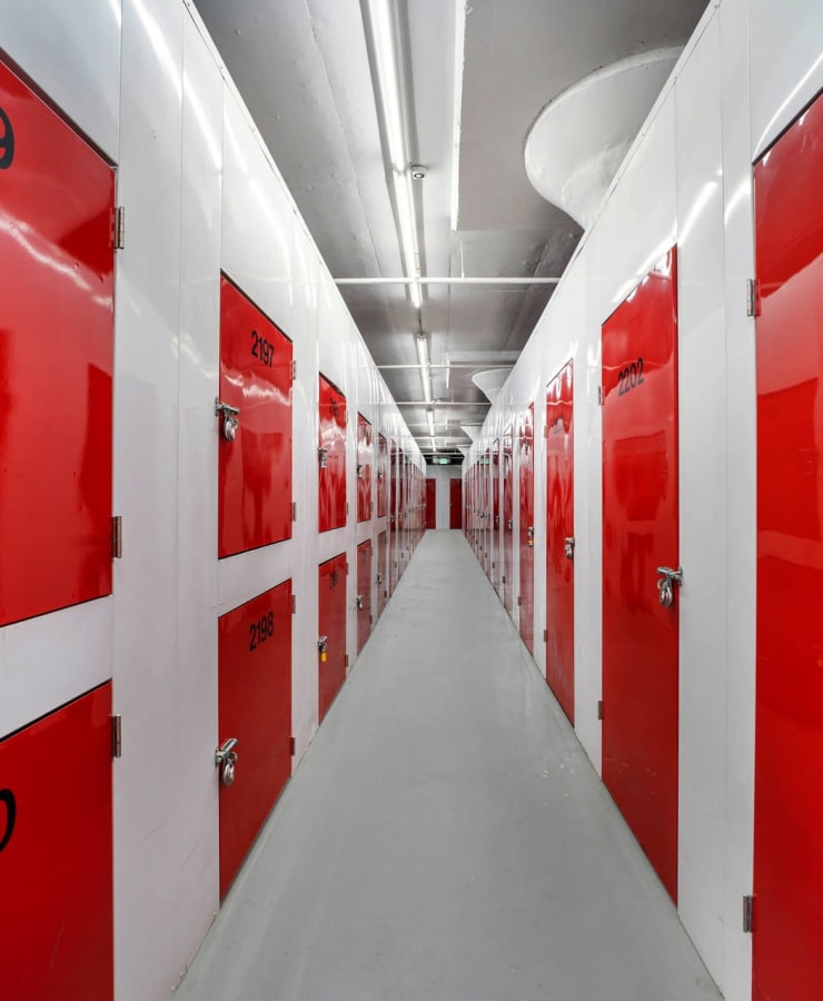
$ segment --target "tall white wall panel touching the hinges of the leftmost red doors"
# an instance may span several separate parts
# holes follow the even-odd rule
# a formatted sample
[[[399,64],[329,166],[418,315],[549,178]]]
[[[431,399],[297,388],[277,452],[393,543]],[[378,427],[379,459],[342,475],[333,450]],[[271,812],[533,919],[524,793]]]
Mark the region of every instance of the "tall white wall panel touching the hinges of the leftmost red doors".
[[[117,257],[115,508],[115,975],[118,1001],[168,995],[180,973],[177,675],[180,148],[184,8],[123,0]],[[181,929],[180,934],[185,934]]]

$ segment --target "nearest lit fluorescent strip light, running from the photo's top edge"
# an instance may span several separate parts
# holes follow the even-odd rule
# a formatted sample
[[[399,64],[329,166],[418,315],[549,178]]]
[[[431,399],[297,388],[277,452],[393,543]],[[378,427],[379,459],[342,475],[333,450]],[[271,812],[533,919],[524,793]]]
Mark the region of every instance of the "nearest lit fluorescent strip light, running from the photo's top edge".
[[[377,70],[378,103],[383,110],[383,126],[395,187],[400,251],[406,275],[412,279],[409,286],[412,305],[415,309],[419,309],[423,305],[423,288],[416,279],[420,277],[420,250],[417,242],[417,214],[412,179],[415,177],[415,170],[422,168],[412,167],[408,162],[406,75],[398,44],[395,6],[391,0],[368,0],[368,14]]]

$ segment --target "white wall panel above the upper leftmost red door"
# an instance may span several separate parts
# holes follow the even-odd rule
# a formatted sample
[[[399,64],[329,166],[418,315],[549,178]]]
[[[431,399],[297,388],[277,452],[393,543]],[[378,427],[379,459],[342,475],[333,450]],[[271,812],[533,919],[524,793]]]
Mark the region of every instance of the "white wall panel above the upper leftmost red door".
[[[0,0],[2,51],[117,162],[121,0],[38,0],[30,16],[24,6]]]

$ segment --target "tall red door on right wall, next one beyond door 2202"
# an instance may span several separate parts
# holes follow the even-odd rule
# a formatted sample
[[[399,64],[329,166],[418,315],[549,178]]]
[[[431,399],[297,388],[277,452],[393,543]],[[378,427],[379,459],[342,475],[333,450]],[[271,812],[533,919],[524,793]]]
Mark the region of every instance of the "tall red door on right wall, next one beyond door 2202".
[[[546,681],[574,723],[574,361],[546,389]]]

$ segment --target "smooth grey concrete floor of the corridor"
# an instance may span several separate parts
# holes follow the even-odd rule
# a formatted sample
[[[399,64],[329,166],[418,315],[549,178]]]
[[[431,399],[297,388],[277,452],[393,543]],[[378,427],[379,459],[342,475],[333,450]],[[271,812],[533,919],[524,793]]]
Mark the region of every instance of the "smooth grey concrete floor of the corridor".
[[[429,532],[176,1001],[720,998],[457,532]]]

